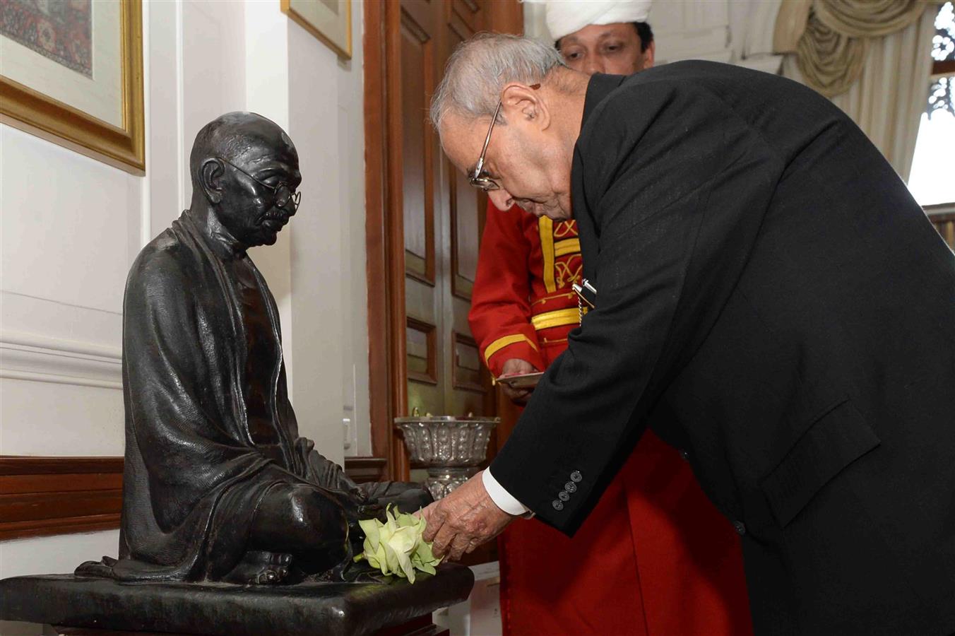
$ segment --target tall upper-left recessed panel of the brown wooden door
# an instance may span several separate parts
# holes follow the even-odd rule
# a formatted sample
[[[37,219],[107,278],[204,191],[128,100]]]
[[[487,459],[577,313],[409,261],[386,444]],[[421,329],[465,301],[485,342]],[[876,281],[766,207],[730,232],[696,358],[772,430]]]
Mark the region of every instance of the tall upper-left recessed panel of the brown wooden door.
[[[401,166],[405,267],[409,275],[434,285],[435,171],[432,162],[435,135],[425,117],[434,89],[435,38],[428,31],[428,22],[402,6]]]

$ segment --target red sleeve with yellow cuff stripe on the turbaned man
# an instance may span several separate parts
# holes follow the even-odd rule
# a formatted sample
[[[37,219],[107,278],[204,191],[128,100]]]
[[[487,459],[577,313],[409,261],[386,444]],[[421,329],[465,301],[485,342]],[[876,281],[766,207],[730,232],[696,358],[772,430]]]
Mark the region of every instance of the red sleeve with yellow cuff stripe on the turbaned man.
[[[531,324],[531,245],[521,231],[523,210],[500,211],[488,201],[468,322],[481,357],[498,377],[504,362],[519,358],[544,368]]]

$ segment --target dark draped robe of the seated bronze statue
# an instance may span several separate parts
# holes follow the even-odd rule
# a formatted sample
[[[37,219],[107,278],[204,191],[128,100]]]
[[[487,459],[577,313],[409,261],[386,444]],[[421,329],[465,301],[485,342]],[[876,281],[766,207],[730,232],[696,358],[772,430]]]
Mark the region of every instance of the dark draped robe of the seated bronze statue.
[[[249,320],[236,267],[261,290],[265,319]],[[246,329],[264,325],[272,355],[249,372],[249,350],[263,349],[249,347]],[[119,580],[222,579],[244,557],[259,503],[281,484],[310,484],[349,505],[367,499],[298,435],[278,310],[262,275],[227,238],[206,236],[188,211],[130,271],[123,393],[122,529],[119,561],[108,563]]]

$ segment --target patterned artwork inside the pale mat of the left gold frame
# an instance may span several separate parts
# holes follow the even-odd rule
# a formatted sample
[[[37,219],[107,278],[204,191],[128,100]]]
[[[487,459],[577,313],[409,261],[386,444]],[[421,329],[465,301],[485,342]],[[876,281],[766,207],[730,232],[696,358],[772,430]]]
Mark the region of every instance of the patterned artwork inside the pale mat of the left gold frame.
[[[0,34],[93,77],[93,0],[0,0]]]

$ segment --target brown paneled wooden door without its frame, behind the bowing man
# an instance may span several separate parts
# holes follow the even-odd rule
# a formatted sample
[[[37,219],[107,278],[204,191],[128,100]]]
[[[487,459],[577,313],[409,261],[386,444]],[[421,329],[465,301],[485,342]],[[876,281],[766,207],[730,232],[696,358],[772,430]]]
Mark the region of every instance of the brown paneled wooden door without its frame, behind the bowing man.
[[[483,28],[477,2],[402,0],[399,16],[401,204],[408,413],[493,414],[468,328],[486,198],[446,159],[427,121],[448,55]],[[396,169],[396,168],[395,168]]]

